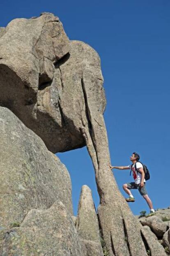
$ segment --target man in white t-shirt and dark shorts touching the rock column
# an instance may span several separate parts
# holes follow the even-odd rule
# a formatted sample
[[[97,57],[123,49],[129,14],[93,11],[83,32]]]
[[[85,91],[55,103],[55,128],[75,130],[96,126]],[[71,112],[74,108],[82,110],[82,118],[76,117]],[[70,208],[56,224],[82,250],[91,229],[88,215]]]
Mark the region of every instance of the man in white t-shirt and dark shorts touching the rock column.
[[[125,199],[127,202],[135,202],[135,198],[133,197],[133,195],[131,193],[131,189],[138,189],[140,194],[143,196],[143,198],[145,198],[145,200],[147,201],[147,204],[149,205],[150,214],[148,214],[147,216],[151,216],[154,214],[155,211],[153,209],[152,201],[150,200],[149,196],[147,195],[147,191],[145,188],[145,182],[146,182],[145,181],[145,172],[143,170],[143,165],[138,162],[139,159],[140,159],[139,154],[137,154],[136,152],[133,152],[132,156],[130,157],[132,165],[128,165],[128,166],[111,166],[111,165],[109,165],[109,166],[110,166],[111,170],[113,168],[119,169],[119,170],[129,170],[129,169],[132,170],[133,179],[135,180],[135,182],[126,183],[123,185],[124,191],[129,195],[129,198],[125,198]],[[136,164],[136,168],[135,168],[135,164]]]

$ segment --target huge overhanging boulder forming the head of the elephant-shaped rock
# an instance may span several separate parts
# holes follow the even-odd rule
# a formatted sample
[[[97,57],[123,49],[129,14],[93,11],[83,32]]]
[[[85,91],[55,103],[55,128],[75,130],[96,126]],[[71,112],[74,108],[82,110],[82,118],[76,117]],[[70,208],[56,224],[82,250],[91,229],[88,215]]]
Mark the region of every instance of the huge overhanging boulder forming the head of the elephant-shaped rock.
[[[85,70],[91,71],[94,104],[102,114],[106,104],[96,51],[83,42],[70,42],[58,17],[49,13],[14,19],[3,31],[0,105],[11,109],[53,153],[85,146]]]

